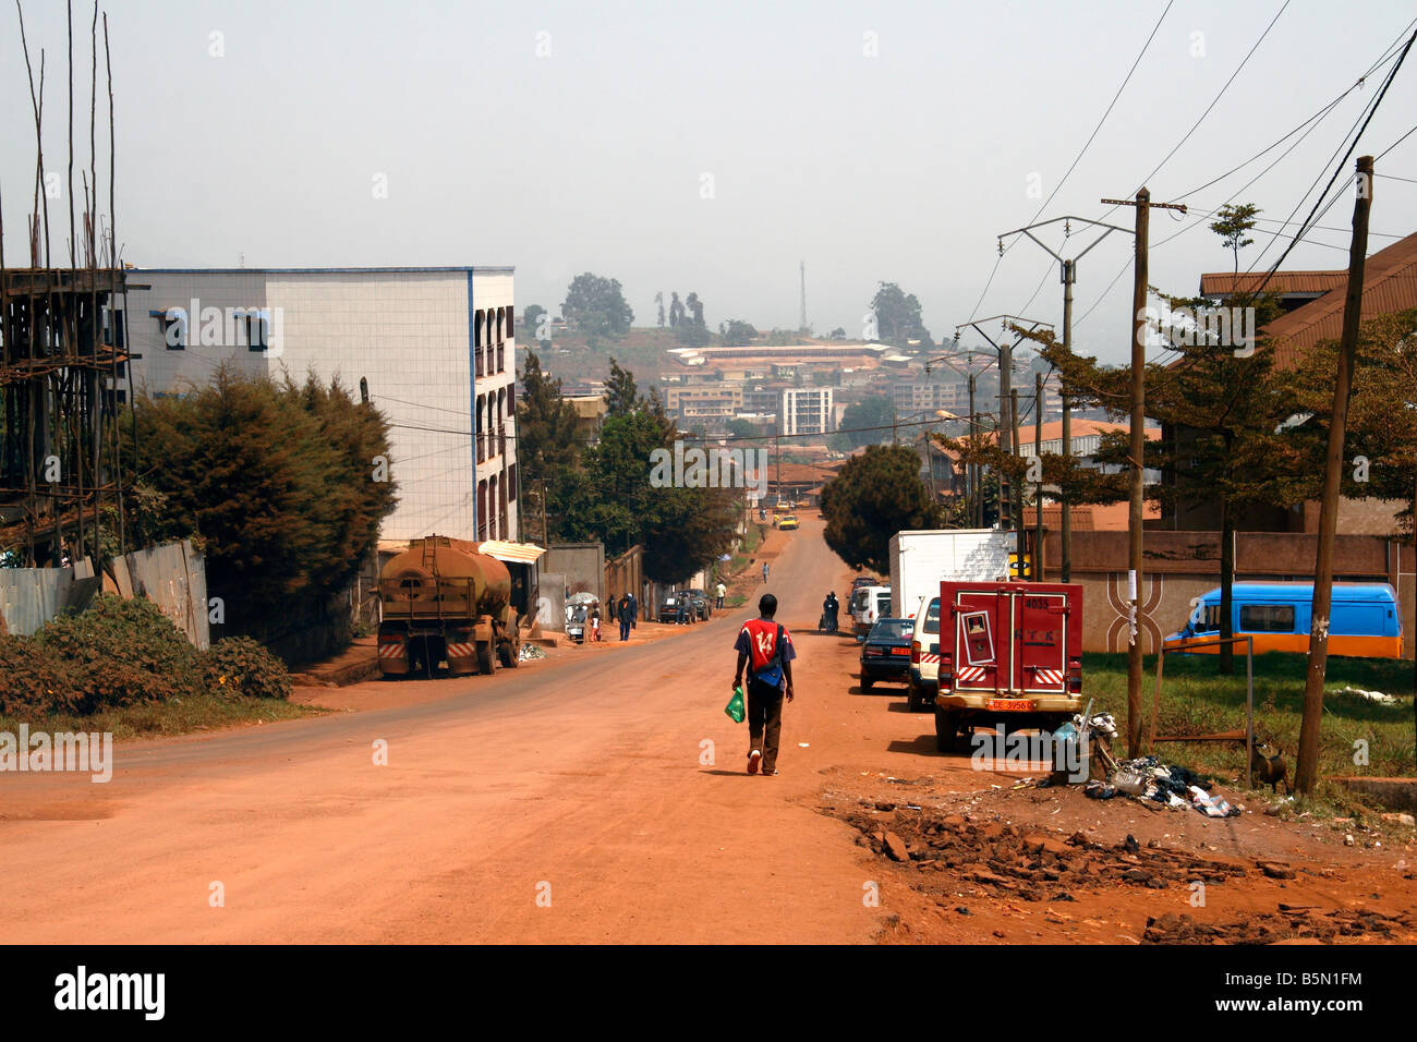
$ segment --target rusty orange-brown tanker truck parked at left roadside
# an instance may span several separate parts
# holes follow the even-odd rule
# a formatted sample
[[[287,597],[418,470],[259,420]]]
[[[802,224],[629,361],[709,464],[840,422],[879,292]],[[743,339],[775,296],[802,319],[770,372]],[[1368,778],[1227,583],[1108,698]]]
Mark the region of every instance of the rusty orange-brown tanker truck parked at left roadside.
[[[521,652],[512,576],[475,543],[428,536],[410,542],[378,573],[384,676],[427,673],[448,663],[453,676],[514,669]]]

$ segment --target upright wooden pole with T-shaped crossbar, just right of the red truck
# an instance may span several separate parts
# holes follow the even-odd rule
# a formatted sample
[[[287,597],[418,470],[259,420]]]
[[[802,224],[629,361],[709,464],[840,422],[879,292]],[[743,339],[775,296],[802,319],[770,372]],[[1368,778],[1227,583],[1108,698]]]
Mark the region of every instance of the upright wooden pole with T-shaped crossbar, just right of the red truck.
[[[1131,444],[1131,509],[1127,519],[1127,754],[1141,756],[1142,744],[1142,489],[1146,478],[1146,238],[1151,210],[1179,210],[1179,203],[1152,203],[1151,191],[1136,190],[1136,198],[1104,198],[1104,204],[1135,206],[1136,248],[1132,261],[1132,444]]]

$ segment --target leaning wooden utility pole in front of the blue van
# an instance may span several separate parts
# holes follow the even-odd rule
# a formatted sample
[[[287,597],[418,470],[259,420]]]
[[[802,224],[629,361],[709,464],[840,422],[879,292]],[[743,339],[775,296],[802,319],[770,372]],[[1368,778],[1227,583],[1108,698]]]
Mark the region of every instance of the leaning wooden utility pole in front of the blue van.
[[[1348,252],[1348,293],[1343,298],[1343,335],[1339,340],[1338,377],[1333,383],[1333,415],[1323,459],[1323,503],[1319,508],[1319,547],[1314,564],[1314,607],[1309,618],[1309,672],[1304,678],[1304,722],[1299,724],[1299,757],[1294,787],[1312,792],[1319,768],[1319,724],[1323,716],[1323,679],[1328,675],[1329,608],[1333,598],[1333,542],[1338,536],[1339,481],[1343,472],[1343,435],[1348,398],[1353,387],[1357,325],[1363,309],[1363,268],[1367,257],[1367,213],[1373,206],[1373,157],[1357,160],[1357,198],[1353,201],[1353,242]]]

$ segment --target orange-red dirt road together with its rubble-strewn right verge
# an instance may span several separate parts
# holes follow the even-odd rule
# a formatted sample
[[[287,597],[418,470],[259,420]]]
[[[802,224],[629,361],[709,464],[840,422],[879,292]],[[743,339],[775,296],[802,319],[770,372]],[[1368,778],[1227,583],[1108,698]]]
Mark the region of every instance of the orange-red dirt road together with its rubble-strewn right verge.
[[[772,581],[747,591],[778,595],[799,654],[779,777],[744,773],[723,713],[747,608],[492,678],[376,680],[322,698],[357,712],[119,746],[109,784],[0,775],[0,941],[1117,941],[1168,912],[1417,904],[1410,845],[1015,792],[937,754],[930,715],[862,693],[856,644],[815,632],[849,588],[820,530],[774,532]],[[1088,845],[1033,869],[1010,819]],[[871,839],[888,831],[911,859]],[[1134,866],[1110,852],[1128,834],[1248,870],[1197,910],[1183,879],[1105,875]],[[1066,903],[1029,882],[1054,878]]]

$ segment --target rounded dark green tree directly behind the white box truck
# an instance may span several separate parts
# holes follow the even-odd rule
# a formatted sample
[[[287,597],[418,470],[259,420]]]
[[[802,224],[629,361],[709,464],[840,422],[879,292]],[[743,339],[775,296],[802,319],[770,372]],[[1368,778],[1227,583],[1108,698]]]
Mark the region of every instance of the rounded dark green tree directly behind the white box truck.
[[[822,489],[826,544],[853,568],[890,570],[890,537],[939,527],[939,508],[920,479],[920,456],[904,445],[869,445]]]

